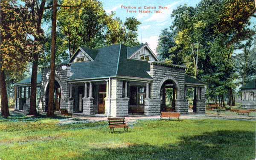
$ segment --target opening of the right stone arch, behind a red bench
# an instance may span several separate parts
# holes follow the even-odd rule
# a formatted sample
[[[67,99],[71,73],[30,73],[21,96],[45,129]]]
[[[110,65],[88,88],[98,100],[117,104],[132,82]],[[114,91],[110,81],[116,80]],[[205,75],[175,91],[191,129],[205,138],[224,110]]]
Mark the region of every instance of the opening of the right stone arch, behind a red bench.
[[[178,87],[175,81],[166,80],[160,89],[160,111],[175,112],[175,100],[177,99]]]

